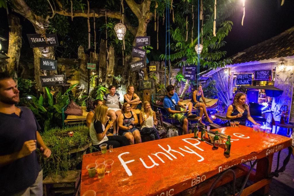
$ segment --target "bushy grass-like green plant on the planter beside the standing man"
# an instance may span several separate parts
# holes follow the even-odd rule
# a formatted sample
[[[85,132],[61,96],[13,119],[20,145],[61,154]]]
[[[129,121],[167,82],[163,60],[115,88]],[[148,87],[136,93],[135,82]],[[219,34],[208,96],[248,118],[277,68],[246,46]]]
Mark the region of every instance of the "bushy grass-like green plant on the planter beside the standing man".
[[[74,132],[73,137],[69,137],[68,132],[70,131]],[[89,129],[86,126],[79,125],[64,129],[53,128],[40,133],[44,143],[51,150],[49,158],[40,156],[43,175],[46,176],[50,172],[62,174],[63,171],[73,169],[76,164],[71,150],[80,150],[87,145],[90,146],[91,138],[88,132]],[[90,147],[90,152],[91,149]]]

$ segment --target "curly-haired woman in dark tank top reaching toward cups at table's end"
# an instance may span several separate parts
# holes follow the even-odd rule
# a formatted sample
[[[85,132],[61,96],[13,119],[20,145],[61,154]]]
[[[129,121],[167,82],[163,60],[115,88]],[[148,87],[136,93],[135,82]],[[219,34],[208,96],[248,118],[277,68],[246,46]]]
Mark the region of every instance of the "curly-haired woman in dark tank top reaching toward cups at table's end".
[[[246,95],[240,92],[235,94],[232,105],[228,107],[227,119],[230,119],[230,122],[239,121],[240,125],[246,125],[246,118],[253,124],[259,125],[250,116]]]

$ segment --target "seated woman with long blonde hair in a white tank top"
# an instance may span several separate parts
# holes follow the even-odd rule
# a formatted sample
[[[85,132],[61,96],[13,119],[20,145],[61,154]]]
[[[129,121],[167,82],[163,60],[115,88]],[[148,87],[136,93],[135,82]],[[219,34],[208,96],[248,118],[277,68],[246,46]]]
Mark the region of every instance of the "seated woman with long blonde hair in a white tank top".
[[[155,126],[158,123],[155,112],[151,109],[149,101],[144,101],[140,113],[141,135],[149,135],[151,140],[159,140],[159,134]]]

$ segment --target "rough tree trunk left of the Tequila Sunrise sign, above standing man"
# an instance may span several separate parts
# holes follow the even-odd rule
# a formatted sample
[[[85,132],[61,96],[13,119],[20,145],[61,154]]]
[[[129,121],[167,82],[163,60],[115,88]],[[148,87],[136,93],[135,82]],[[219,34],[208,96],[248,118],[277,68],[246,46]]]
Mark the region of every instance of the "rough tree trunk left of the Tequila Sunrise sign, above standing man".
[[[8,63],[6,64],[6,71],[12,73],[12,76],[17,80],[17,71],[19,65],[19,57],[21,51],[21,25],[19,22],[19,17],[9,14],[9,47],[7,59]]]

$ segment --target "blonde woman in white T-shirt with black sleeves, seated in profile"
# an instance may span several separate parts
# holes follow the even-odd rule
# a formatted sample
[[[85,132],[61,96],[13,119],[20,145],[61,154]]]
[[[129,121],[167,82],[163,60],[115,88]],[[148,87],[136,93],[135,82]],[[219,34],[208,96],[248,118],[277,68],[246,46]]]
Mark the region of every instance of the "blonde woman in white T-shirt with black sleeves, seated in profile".
[[[104,143],[107,144],[107,149],[109,149],[109,145],[113,145],[113,148],[128,145],[128,140],[123,136],[106,136],[109,128],[113,126],[113,123],[109,122],[105,127],[105,123],[107,122],[107,110],[108,107],[106,105],[98,105],[94,110],[95,113],[90,125],[90,137],[92,139],[92,145],[97,150],[101,150],[99,145]]]

